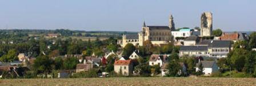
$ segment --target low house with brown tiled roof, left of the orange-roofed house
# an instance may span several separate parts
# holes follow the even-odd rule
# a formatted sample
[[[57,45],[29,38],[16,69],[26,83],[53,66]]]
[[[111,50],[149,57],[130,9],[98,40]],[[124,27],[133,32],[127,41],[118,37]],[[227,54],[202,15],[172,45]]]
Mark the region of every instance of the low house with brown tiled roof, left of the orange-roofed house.
[[[75,70],[76,72],[83,72],[83,71],[89,71],[90,69],[93,68],[93,64],[77,64],[77,69]]]

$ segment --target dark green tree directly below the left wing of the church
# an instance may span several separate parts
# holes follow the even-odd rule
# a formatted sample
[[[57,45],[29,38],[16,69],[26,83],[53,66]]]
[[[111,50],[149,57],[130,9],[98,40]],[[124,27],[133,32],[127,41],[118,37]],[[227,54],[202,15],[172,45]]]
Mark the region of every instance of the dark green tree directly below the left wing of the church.
[[[131,44],[131,43],[128,43],[128,44],[126,44],[126,46],[123,48],[123,56],[124,56],[124,58],[129,58],[129,56],[131,55],[131,54],[133,54],[133,52],[135,51],[135,46],[133,46],[133,44]]]

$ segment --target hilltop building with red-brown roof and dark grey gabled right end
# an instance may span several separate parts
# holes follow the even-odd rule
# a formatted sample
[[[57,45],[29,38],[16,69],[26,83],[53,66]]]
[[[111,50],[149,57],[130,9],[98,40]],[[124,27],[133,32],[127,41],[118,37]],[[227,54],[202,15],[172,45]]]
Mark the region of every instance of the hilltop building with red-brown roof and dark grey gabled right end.
[[[223,32],[222,36],[219,37],[219,40],[232,40],[233,42],[237,42],[238,40],[249,40],[249,36],[242,32]]]

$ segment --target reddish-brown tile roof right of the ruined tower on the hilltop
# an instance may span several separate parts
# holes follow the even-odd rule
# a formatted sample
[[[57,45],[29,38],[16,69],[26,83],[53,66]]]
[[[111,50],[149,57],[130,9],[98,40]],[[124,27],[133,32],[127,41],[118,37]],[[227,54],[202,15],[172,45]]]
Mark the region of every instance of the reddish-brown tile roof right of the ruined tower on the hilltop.
[[[238,40],[238,33],[223,33],[222,36],[219,37],[220,40]]]

